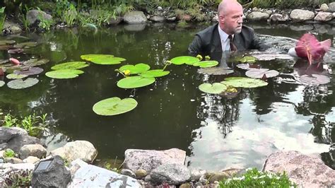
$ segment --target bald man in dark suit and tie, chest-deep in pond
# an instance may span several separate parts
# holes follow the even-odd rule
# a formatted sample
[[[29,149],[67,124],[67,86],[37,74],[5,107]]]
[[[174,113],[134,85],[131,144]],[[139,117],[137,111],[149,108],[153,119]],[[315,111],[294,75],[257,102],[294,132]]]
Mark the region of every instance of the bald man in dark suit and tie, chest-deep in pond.
[[[217,52],[243,51],[268,47],[261,42],[254,30],[242,25],[243,8],[235,0],[223,0],[218,6],[218,23],[199,33],[189,45],[189,54],[211,55]]]

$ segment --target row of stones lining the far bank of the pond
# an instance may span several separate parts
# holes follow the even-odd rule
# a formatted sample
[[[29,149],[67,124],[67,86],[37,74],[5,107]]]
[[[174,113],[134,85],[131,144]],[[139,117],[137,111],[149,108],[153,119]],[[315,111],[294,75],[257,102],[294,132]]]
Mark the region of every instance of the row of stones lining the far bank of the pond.
[[[42,19],[55,23],[49,13],[39,10],[30,10],[26,13],[26,20],[30,28],[37,28],[38,23]],[[120,23],[126,24],[143,24],[143,23],[162,23],[162,22],[178,22],[178,23],[194,23],[194,22],[217,22],[218,16],[216,10],[199,9],[196,13],[187,13],[182,10],[172,10],[170,7],[162,8],[158,6],[152,13],[144,13],[143,11],[129,11],[124,16],[110,16],[102,25],[112,27]],[[286,9],[278,10],[276,8],[245,8],[245,22],[264,22],[264,23],[308,23],[308,24],[330,24],[335,25],[335,2],[330,4],[321,4],[315,9]],[[4,24],[3,35],[18,34],[23,31],[22,23],[6,20]],[[57,23],[53,28],[64,28],[67,25]],[[95,25],[93,25],[95,27]],[[43,31],[43,30],[40,30]]]

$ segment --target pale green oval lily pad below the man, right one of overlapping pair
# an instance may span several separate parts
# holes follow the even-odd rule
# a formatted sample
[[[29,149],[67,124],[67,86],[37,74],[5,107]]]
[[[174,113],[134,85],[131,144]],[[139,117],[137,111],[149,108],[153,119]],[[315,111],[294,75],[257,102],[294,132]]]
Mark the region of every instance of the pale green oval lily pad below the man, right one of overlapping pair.
[[[266,81],[262,81],[260,79],[243,77],[225,78],[225,81],[221,81],[221,83],[235,88],[258,88],[268,85]]]

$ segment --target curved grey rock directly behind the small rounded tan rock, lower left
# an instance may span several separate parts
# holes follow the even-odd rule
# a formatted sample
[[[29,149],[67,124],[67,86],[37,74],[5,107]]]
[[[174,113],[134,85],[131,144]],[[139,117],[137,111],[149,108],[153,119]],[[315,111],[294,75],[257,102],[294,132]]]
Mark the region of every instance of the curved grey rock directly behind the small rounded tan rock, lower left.
[[[20,151],[20,148],[22,146],[25,146],[27,144],[42,144],[40,139],[37,139],[33,136],[29,136],[26,134],[19,134],[18,136],[13,137],[10,139],[4,148],[11,148],[15,153],[18,153]],[[4,149],[0,148],[0,149]]]

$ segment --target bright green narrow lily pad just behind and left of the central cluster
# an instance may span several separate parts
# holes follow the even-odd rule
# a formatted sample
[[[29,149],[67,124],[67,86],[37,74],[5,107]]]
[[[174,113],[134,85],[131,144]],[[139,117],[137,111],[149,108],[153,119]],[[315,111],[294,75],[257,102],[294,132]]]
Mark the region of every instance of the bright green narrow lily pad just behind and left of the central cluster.
[[[95,64],[121,64],[121,61],[126,61],[122,57],[114,57],[109,54],[87,54],[82,55],[81,59],[91,61]]]

